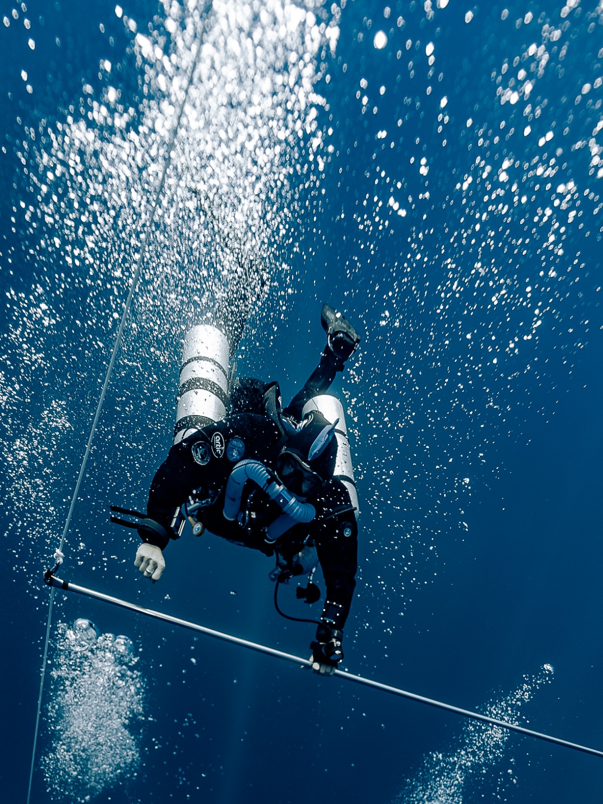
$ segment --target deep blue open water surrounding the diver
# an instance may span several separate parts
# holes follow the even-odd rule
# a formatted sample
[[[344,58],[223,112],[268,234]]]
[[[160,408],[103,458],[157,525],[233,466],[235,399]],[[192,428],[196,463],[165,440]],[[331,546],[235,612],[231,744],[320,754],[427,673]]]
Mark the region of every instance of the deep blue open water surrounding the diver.
[[[279,51],[276,6],[291,18],[284,3],[264,16],[259,4],[233,3],[230,16],[217,3],[200,8],[202,35],[216,49],[201,51],[194,109],[176,140],[61,573],[308,653],[312,626],[275,613],[264,556],[189,533],[167,548],[166,572],[151,586],[133,566],[136,540],[108,523],[109,504],[145,504],[171,443],[184,330],[224,304],[224,289],[242,303],[232,248],[215,244],[235,232],[270,283],[267,293],[254,285],[240,373],[279,379],[290,397],[322,347],[323,301],[362,334],[337,381],[361,499],[346,667],[469,709],[527,683],[514,716],[603,749],[603,13],[584,0],[452,0],[432,11],[348,2],[341,18],[325,6],[324,23],[338,20],[334,51],[324,31],[317,48],[311,34],[304,40],[316,27],[308,18],[287,34],[289,51],[297,37],[297,55],[307,53],[308,80],[323,99],[305,105]],[[122,11],[61,2],[0,12],[9,23],[0,27],[0,377],[10,802],[27,799],[49,599],[42,574],[165,160],[175,115],[160,104],[192,55],[179,39],[182,19],[166,27],[163,6],[138,0]],[[135,43],[127,19],[150,39],[155,31],[158,47],[175,54],[173,68]],[[232,34],[249,24],[262,52],[249,62],[226,57],[220,26]],[[200,31],[198,19],[191,30]],[[387,39],[381,49],[377,31]],[[291,92],[276,76],[293,76]],[[299,137],[295,121],[311,128],[312,104],[316,129]],[[162,112],[167,124],[155,125]],[[233,146],[241,132],[249,147]],[[317,133],[323,144],[312,146]],[[118,145],[126,140],[130,150]],[[191,187],[215,194],[220,224]],[[292,588],[282,604],[308,613]],[[57,624],[76,617],[134,642],[132,688],[114,699],[101,688],[106,667],[85,671],[74,657],[69,684],[89,683],[89,708],[69,710],[65,685],[47,673],[32,802],[598,799],[596,757],[518,736],[476,741],[444,712],[60,593],[49,670],[60,662]],[[126,720],[130,712],[138,765],[126,763],[123,735],[104,710]],[[86,756],[106,759],[94,789],[85,767],[68,777],[60,750],[69,724],[90,713]]]

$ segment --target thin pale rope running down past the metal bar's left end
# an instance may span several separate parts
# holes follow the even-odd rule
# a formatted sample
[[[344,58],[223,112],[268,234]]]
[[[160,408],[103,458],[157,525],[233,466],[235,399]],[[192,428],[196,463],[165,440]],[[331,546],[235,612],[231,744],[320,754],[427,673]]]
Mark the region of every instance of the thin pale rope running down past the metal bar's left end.
[[[211,11],[211,7],[212,7],[212,4],[210,3],[208,13],[209,13],[209,11]],[[207,14],[204,14],[204,17],[205,16],[207,16]],[[188,91],[191,88],[192,79],[193,79],[193,77],[195,75],[196,65],[197,65],[197,62],[199,60],[202,44],[203,44],[203,39],[202,39],[202,36],[199,35],[195,55],[194,55],[194,57],[192,59],[191,72],[190,72],[190,74],[188,76],[188,81],[187,81],[186,87],[184,88],[184,96],[182,98],[182,102],[180,103],[180,110],[178,112],[178,117],[176,117],[176,123],[174,124],[174,127],[172,129],[170,141],[169,141],[168,146],[167,146],[167,154],[166,154],[165,162],[163,163],[163,170],[162,170],[162,173],[161,173],[161,178],[159,179],[159,186],[157,187],[157,191],[155,192],[155,199],[153,200],[153,206],[151,207],[151,215],[150,215],[148,223],[147,223],[147,228],[146,228],[145,232],[142,235],[142,240],[141,240],[141,244],[140,244],[140,253],[138,254],[138,260],[136,262],[136,267],[134,269],[134,274],[132,276],[132,281],[130,283],[130,292],[128,293],[128,297],[126,298],[126,304],[125,304],[124,309],[123,309],[122,320],[119,322],[118,333],[115,336],[115,344],[114,344],[113,352],[111,354],[111,359],[109,359],[109,366],[107,367],[107,371],[106,371],[106,374],[105,374],[105,382],[103,383],[103,386],[102,386],[101,396],[100,396],[100,398],[98,400],[97,411],[94,414],[94,419],[93,419],[92,427],[90,429],[90,435],[89,435],[89,438],[88,438],[88,443],[86,444],[84,457],[83,457],[83,459],[81,461],[80,472],[79,472],[79,474],[77,476],[75,489],[73,490],[73,495],[72,495],[72,498],[71,498],[71,504],[69,506],[69,511],[68,511],[68,514],[67,514],[67,519],[65,520],[65,526],[63,528],[63,533],[61,534],[61,537],[60,537],[60,546],[59,546],[57,552],[55,553],[55,556],[58,557],[58,559],[59,559],[59,563],[63,558],[63,547],[64,547],[64,542],[65,542],[65,537],[67,536],[67,533],[68,533],[68,530],[69,530],[69,525],[71,524],[71,519],[72,519],[72,515],[73,515],[73,509],[75,508],[76,500],[77,500],[78,494],[80,493],[80,486],[81,486],[81,482],[82,482],[82,480],[84,478],[86,465],[88,463],[88,459],[89,459],[89,455],[90,455],[90,450],[92,449],[92,442],[93,442],[94,434],[97,431],[98,420],[101,417],[101,409],[102,409],[103,403],[105,402],[105,396],[106,396],[107,388],[109,387],[109,379],[111,378],[111,375],[112,375],[113,370],[114,370],[114,365],[115,365],[115,361],[116,361],[117,356],[118,356],[119,347],[122,344],[122,337],[123,337],[124,330],[126,328],[126,320],[127,320],[128,316],[130,314],[130,307],[132,306],[132,301],[134,299],[134,293],[136,293],[136,290],[138,288],[138,281],[140,279],[140,273],[142,271],[142,262],[144,260],[145,252],[147,251],[147,244],[148,244],[149,239],[151,237],[151,228],[152,228],[152,226],[153,226],[153,224],[155,222],[155,213],[157,211],[157,208],[159,207],[159,198],[160,198],[161,194],[163,193],[163,186],[165,184],[165,178],[166,178],[166,175],[167,175],[167,170],[169,169],[169,166],[171,164],[171,150],[174,147],[174,144],[176,142],[176,136],[178,134],[178,130],[180,129],[180,122],[182,121],[182,115],[184,113],[184,105],[185,105],[186,100],[188,98]],[[45,642],[44,642],[44,652],[43,652],[43,660],[42,660],[42,673],[41,673],[40,684],[39,684],[38,710],[37,710],[37,714],[35,716],[34,745],[33,745],[32,751],[31,751],[31,768],[30,768],[30,773],[29,773],[29,788],[27,790],[27,804],[30,804],[31,783],[33,781],[33,776],[34,776],[35,749],[36,749],[36,745],[37,745],[37,742],[38,742],[40,712],[42,711],[42,695],[43,695],[43,688],[44,688],[44,677],[46,675],[48,643],[50,642],[50,629],[51,629],[51,624],[52,624],[52,605],[53,605],[53,602],[54,602],[54,589],[51,590],[50,602],[48,603],[48,619],[47,619],[47,624],[46,624],[46,638],[45,638]]]

